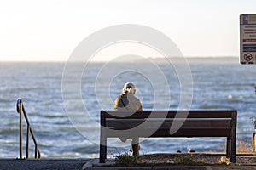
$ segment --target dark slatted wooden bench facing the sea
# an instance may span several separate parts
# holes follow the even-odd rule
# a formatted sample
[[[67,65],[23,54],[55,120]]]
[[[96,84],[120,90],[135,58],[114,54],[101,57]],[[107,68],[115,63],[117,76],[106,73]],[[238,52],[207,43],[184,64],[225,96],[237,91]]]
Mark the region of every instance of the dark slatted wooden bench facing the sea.
[[[236,162],[237,111],[101,111],[100,162],[107,139],[227,137],[226,156]]]

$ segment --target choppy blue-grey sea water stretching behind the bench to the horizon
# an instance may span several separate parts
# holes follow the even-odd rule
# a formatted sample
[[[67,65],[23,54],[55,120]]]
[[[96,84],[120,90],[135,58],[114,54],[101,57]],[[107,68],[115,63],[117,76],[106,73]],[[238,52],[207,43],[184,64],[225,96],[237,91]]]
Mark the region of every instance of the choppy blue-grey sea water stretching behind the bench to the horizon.
[[[186,82],[187,87],[181,85],[183,77],[165,62],[154,65],[159,74],[151,64],[142,62],[90,63],[84,65],[83,72],[77,65],[73,64],[69,70],[71,74],[63,82],[63,71],[67,71],[65,63],[0,63],[0,158],[19,156],[19,114],[15,106],[19,97],[24,102],[42,157],[98,157],[100,110],[113,109],[113,100],[125,82],[136,84],[144,110],[180,109],[181,96],[188,101],[189,89],[193,92],[191,105],[188,102],[184,108],[236,109],[237,138],[251,140],[253,124],[250,116],[256,116],[254,65],[226,60],[189,61],[193,82]],[[79,88],[72,77],[76,75],[79,75]],[[63,92],[63,83],[71,88]],[[73,90],[79,90],[80,95]],[[63,93],[67,97],[63,98]],[[83,105],[79,105],[81,99]],[[25,122],[23,125],[25,151]],[[145,139],[140,152],[186,152],[189,148],[219,152],[224,150],[224,141],[223,138]],[[109,141],[113,147],[108,149],[108,156],[129,150],[129,142],[126,146],[120,144],[122,147],[114,142]],[[32,156],[32,139],[30,146]],[[25,152],[23,154],[25,156]]]

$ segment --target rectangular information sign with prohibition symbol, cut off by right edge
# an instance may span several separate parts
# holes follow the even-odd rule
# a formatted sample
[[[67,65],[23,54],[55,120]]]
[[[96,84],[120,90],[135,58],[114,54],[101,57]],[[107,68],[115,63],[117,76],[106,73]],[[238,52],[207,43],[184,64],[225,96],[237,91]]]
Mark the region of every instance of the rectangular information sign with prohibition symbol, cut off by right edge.
[[[256,14],[240,15],[240,63],[256,65]]]

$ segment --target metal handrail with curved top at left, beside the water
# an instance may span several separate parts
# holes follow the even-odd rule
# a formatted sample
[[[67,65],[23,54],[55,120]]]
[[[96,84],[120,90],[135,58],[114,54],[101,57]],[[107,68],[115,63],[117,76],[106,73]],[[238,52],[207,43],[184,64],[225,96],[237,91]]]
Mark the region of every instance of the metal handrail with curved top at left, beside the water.
[[[40,158],[41,155],[38,148],[38,143],[37,143],[37,140],[35,139],[34,133],[32,132],[32,127],[26,116],[26,111],[21,98],[17,99],[16,107],[17,107],[16,108],[17,112],[20,114],[20,159],[22,159],[22,114],[25,116],[26,125],[27,125],[26,127],[26,159],[29,156],[29,134],[31,134],[33,142],[35,144],[35,158]]]

